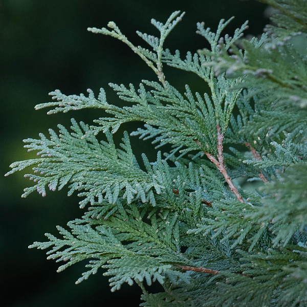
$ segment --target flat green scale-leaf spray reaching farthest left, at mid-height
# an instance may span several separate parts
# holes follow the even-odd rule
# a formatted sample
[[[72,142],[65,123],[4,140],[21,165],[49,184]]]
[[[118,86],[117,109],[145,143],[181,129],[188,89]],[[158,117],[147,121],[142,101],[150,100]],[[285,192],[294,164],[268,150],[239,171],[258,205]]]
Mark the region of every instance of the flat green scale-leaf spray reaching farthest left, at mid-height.
[[[33,166],[34,174],[26,174],[35,182],[26,188],[23,197],[37,190],[46,195],[46,186],[50,190],[60,190],[69,185],[69,195],[74,191],[84,199],[80,207],[87,203],[101,203],[107,199],[114,204],[118,197],[131,203],[135,199],[155,204],[153,191],[160,193],[163,186],[157,176],[141,170],[138,165],[127,133],[116,148],[112,135],[107,133],[106,141],[98,141],[93,135],[84,138],[89,126],[77,124],[72,119],[72,132],[59,125],[59,135],[50,129],[50,138],[40,134],[40,139],[26,139],[28,151],[37,150],[41,158],[19,161],[11,164],[7,174]]]

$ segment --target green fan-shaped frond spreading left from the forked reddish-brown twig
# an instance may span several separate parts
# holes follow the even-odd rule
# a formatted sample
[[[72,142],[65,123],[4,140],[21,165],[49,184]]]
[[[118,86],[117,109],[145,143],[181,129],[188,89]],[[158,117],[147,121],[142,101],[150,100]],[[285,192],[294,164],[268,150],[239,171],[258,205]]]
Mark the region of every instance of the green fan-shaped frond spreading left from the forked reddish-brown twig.
[[[213,82],[215,90],[211,98],[208,94],[193,94],[188,86],[183,96],[167,82],[163,87],[157,82],[143,81],[151,90],[146,91],[141,84],[139,93],[131,85],[127,89],[124,85],[110,84],[121,99],[138,104],[117,109],[111,106],[106,112],[114,117],[95,120],[99,126],[91,126],[92,131],[97,134],[111,128],[114,132],[123,122],[143,121],[149,129],[146,132],[139,130],[133,135],[145,133],[148,138],[159,138],[161,142],[186,147],[183,150],[203,149],[214,153],[216,124],[226,131],[240,91],[227,92],[229,84],[223,76]],[[152,129],[152,126],[159,128]]]

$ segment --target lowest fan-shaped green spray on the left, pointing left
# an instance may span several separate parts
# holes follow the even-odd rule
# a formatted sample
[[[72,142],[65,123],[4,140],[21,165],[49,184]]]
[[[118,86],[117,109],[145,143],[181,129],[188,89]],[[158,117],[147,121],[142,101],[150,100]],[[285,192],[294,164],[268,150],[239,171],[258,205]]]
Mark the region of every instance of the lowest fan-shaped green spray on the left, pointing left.
[[[48,242],[35,242],[30,247],[50,249],[48,259],[66,262],[58,272],[76,262],[90,260],[88,271],[82,274],[76,283],[95,274],[99,268],[106,269],[112,291],[120,289],[122,283],[134,281],[152,281],[164,283],[165,277],[176,282],[189,283],[189,276],[181,272],[178,265],[191,260],[178,250],[179,228],[178,214],[165,212],[164,216],[148,215],[131,203],[124,208],[117,204],[117,212],[108,218],[93,220],[87,214],[82,220],[68,223],[70,230],[58,227],[63,238],[46,234]],[[168,215],[168,216],[167,216]],[[173,222],[170,222],[173,221]]]

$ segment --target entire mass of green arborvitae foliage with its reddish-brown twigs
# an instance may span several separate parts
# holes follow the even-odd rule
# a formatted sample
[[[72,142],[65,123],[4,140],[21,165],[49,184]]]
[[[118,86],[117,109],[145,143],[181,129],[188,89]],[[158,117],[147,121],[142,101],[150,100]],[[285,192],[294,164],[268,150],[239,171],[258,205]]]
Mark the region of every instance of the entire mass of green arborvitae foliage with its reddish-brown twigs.
[[[126,43],[158,80],[109,84],[124,107],[108,103],[103,89],[98,96],[56,90],[53,102],[36,106],[108,114],[25,140],[40,158],[8,172],[32,166],[25,177],[35,185],[23,196],[67,185],[81,197],[82,219],[30,246],[48,249],[58,271],[86,260],[77,283],[97,271],[110,276],[112,291],[137,283],[142,306],[307,305],[307,58],[295,47],[297,39],[307,46],[307,3],[262,2],[277,10],[260,39],[242,39],[247,23],[231,36],[221,34],[231,19],[215,33],[199,23],[211,48],[186,55],[163,48],[183,17],[178,11],[165,24],[151,20],[159,37],[137,32],[149,49],[114,22],[89,28]],[[182,94],[165,64],[195,73],[210,91],[186,85]],[[131,121],[144,123],[131,135],[169,152],[137,161],[127,133],[116,146],[112,134]],[[155,281],[164,292],[147,292]]]

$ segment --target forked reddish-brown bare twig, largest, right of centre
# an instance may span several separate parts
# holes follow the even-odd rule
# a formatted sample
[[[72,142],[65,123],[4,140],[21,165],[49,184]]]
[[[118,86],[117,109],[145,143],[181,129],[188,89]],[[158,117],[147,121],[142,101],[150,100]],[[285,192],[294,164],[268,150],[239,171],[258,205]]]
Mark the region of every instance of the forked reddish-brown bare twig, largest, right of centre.
[[[229,177],[227,173],[227,169],[224,163],[224,156],[223,156],[223,140],[224,140],[224,134],[221,133],[221,127],[219,125],[216,125],[217,128],[217,159],[209,152],[204,151],[205,155],[208,157],[208,159],[216,166],[218,170],[223,174],[228,186],[232,190],[232,192],[235,194],[237,200],[241,203],[245,203],[243,200],[243,197],[240,195],[238,189],[232,182],[231,178]],[[199,140],[194,140],[196,143],[198,143],[201,146],[201,143]]]

